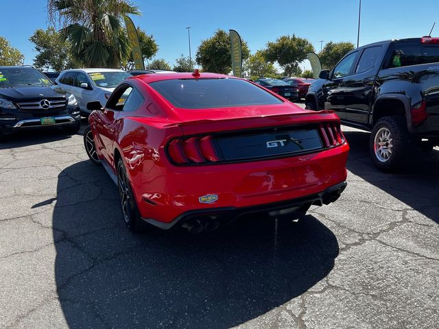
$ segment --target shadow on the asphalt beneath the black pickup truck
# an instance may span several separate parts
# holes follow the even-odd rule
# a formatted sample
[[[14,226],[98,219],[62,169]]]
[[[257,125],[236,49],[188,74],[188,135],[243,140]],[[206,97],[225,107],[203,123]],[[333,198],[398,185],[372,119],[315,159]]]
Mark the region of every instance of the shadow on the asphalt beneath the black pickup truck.
[[[368,132],[344,132],[351,147],[347,168],[354,175],[377,186],[420,214],[439,223],[439,151],[421,156],[403,173],[384,173],[372,162]],[[385,199],[385,195],[382,197]]]

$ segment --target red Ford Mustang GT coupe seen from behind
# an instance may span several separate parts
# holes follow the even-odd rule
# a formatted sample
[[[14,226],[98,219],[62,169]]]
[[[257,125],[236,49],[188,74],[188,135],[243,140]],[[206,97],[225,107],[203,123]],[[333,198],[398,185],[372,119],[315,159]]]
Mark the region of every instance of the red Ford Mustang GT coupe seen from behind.
[[[214,230],[240,215],[304,215],[344,190],[348,144],[330,111],[302,110],[213,73],[130,77],[94,110],[89,158],[119,186],[128,228]],[[297,218],[297,217],[296,217]]]

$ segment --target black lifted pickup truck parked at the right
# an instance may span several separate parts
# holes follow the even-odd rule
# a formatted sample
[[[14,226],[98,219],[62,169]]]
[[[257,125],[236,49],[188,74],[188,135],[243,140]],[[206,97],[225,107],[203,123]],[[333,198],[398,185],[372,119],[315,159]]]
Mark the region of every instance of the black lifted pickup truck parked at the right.
[[[385,171],[405,169],[439,145],[439,38],[376,42],[320,72],[305,98],[344,125],[372,132],[370,154]]]

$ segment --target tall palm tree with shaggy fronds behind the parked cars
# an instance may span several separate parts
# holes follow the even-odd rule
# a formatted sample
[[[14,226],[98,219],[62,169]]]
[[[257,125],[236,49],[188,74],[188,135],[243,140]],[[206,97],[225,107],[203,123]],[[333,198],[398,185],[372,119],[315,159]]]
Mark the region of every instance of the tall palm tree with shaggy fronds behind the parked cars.
[[[128,0],[48,0],[51,23],[71,44],[75,60],[88,67],[119,68],[130,57],[123,16],[140,15]]]

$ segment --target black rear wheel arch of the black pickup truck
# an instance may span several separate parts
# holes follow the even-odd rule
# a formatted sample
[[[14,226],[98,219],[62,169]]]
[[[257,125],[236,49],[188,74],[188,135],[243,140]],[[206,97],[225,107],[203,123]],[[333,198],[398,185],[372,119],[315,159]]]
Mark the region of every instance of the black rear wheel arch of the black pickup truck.
[[[410,100],[402,94],[383,94],[380,95],[372,107],[372,115],[369,124],[373,127],[379,119],[387,116],[405,117],[407,129],[412,132]]]

